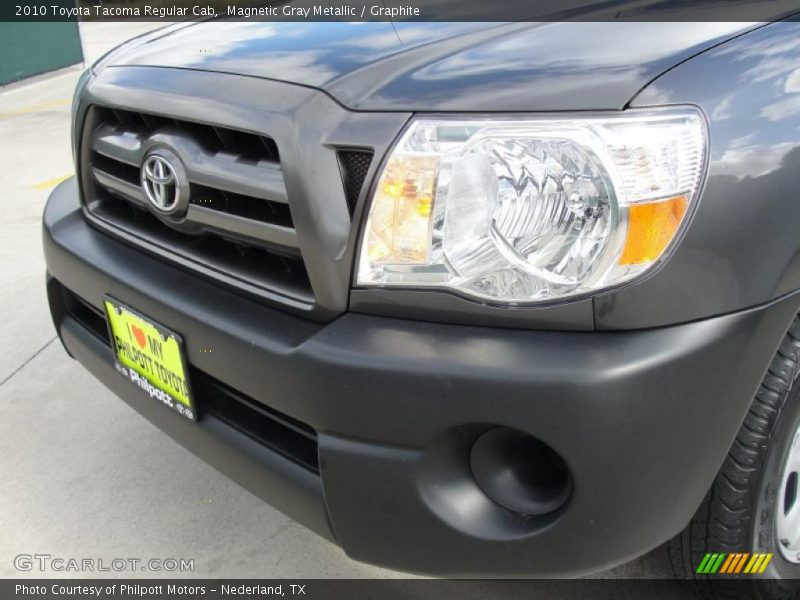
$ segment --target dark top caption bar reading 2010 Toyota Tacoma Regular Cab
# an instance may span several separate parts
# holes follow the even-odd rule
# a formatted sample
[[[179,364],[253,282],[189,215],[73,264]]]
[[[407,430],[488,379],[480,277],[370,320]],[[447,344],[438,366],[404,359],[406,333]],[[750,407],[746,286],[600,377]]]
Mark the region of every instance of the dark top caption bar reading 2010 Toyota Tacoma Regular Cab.
[[[0,21],[776,21],[800,0],[3,0]]]

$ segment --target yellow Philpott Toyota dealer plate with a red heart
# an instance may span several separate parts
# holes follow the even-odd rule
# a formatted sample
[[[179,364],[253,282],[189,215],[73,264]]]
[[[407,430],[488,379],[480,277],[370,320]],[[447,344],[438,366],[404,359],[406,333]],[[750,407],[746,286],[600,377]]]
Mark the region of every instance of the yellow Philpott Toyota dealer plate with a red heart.
[[[181,336],[111,298],[105,306],[117,370],[154,400],[196,421]]]

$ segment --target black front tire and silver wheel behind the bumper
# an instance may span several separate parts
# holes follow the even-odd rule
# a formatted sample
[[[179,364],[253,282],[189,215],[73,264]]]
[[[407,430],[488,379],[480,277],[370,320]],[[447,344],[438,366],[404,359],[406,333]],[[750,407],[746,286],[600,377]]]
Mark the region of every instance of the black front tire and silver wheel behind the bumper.
[[[800,598],[800,317],[781,342],[733,446],[686,529],[669,542],[676,576],[713,600]],[[769,553],[759,574],[702,575],[706,553]]]

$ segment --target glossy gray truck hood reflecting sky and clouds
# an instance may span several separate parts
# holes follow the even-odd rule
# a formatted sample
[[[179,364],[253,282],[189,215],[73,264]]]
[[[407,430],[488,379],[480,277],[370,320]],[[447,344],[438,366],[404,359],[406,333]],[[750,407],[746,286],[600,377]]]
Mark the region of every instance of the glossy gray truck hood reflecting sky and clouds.
[[[354,110],[621,109],[748,23],[291,23],[173,27],[106,66],[234,73],[321,89]]]

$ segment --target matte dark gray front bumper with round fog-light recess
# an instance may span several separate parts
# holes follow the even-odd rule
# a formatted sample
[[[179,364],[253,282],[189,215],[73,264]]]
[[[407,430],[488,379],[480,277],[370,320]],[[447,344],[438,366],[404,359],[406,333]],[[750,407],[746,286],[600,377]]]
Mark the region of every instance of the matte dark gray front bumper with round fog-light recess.
[[[788,297],[613,333],[354,313],[321,325],[95,231],[73,181],[50,198],[44,246],[61,339],[117,395],[350,556],[438,575],[580,575],[676,534],[714,479],[798,308]],[[181,332],[202,374],[195,386],[229,386],[290,428],[313,429],[318,463],[270,443],[269,429],[208,412],[191,423],[145,397],[116,373],[102,336],[70,313],[67,290],[96,308],[111,294]],[[481,492],[469,451],[495,426],[529,433],[564,458],[574,492],[563,510],[520,518]]]

